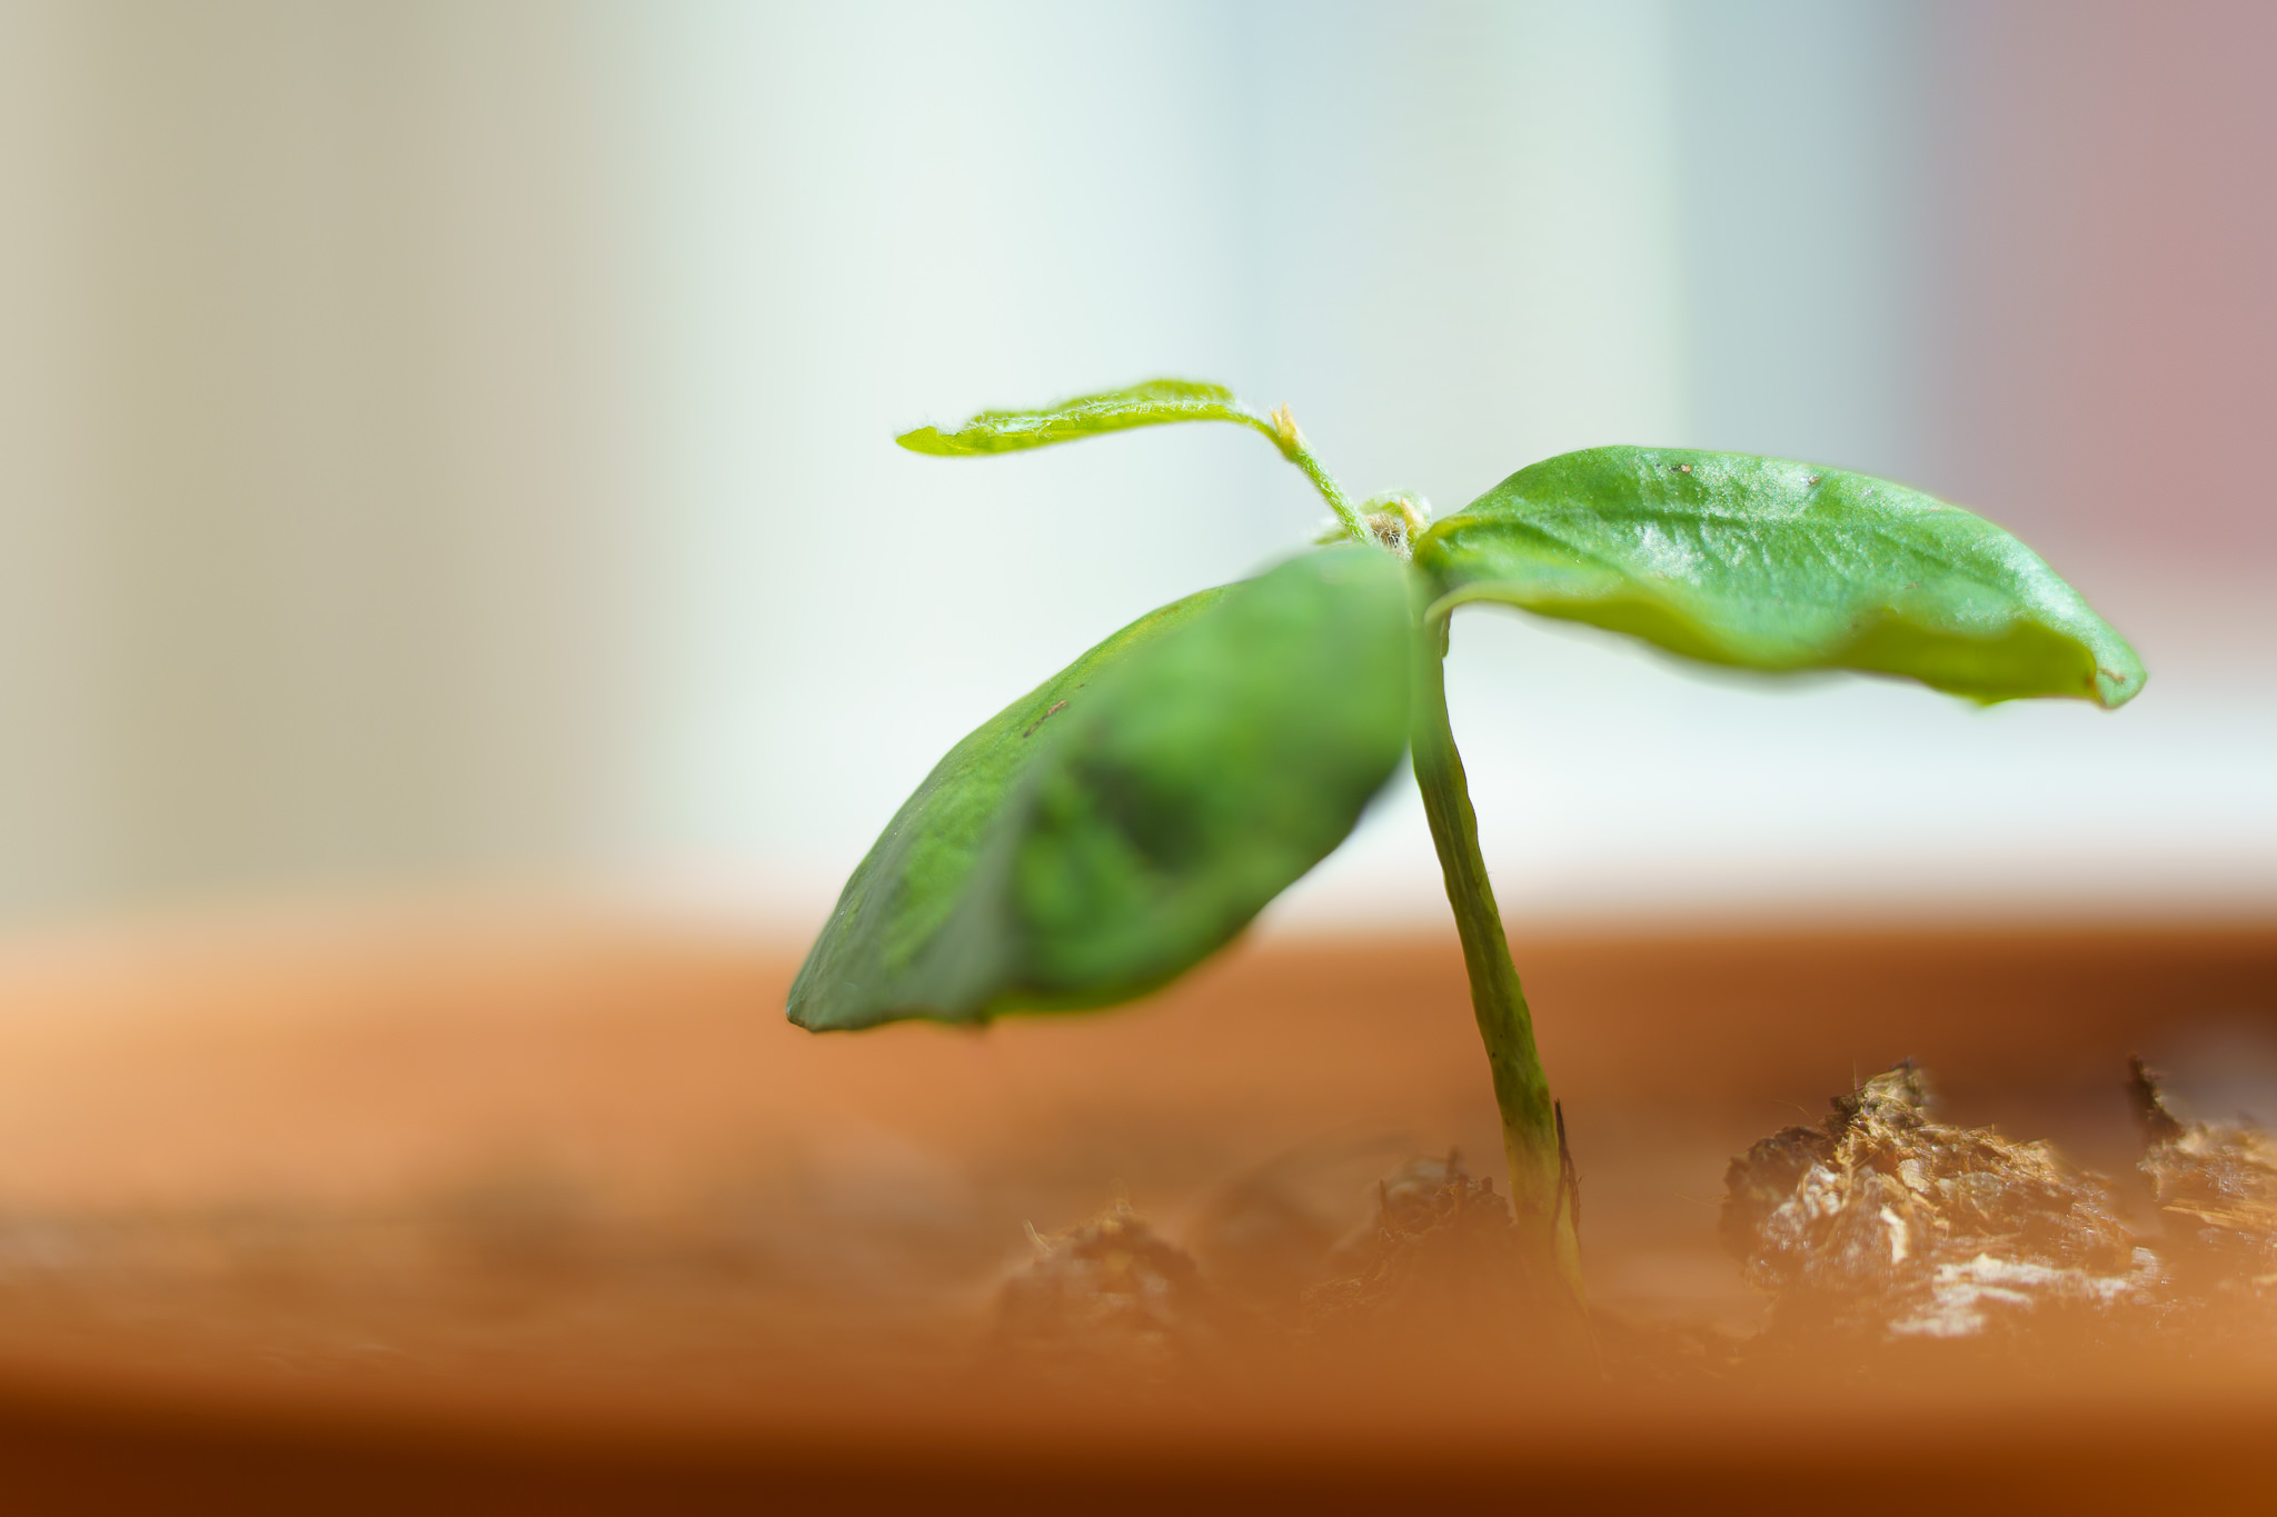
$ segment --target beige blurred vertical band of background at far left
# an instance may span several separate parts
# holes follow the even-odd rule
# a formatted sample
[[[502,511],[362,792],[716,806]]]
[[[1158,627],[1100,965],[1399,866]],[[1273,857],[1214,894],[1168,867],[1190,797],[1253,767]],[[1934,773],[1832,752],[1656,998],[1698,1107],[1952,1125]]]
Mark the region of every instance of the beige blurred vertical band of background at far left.
[[[590,27],[0,30],[0,903],[619,846],[649,523]]]

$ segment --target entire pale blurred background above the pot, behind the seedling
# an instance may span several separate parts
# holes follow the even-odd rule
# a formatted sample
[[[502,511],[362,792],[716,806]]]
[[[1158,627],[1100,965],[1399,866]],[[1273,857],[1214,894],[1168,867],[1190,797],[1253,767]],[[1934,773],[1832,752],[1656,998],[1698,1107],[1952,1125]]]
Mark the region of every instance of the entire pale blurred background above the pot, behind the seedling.
[[[2024,534],[2120,714],[1473,612],[1516,919],[2277,903],[2277,7],[0,0],[0,928],[567,889],[786,939],[931,762],[1291,550],[1608,441]],[[1444,912],[1409,787],[1275,930]]]

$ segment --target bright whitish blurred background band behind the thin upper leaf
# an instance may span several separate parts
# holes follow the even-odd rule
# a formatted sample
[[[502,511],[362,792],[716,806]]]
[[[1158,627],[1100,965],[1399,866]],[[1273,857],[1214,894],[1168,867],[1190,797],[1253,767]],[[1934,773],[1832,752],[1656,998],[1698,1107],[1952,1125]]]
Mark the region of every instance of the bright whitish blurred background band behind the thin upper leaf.
[[[1649,7],[688,7],[638,32],[679,550],[651,826],[795,910],[979,716],[1323,514],[1234,430],[988,464],[893,432],[1200,373],[1291,403],[1353,487],[1457,503],[1685,430]]]

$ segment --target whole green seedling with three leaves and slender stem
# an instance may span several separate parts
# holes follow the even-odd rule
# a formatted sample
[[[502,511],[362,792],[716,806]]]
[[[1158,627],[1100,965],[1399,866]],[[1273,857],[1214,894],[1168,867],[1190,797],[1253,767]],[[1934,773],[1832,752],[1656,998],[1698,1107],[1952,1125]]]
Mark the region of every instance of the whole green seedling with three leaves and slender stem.
[[[981,1023],[1143,996],[1327,857],[1405,751],[1471,976],[1526,1258],[1583,1310],[1562,1114],[1448,726],[1455,610],[1512,605],[1710,664],[2118,707],[2143,664],[2001,528],[1840,469],[1587,448],[1432,521],[1353,505],[1287,409],[1186,380],[920,428],[972,457],[1170,421],[1261,432],[1334,512],[1314,553],[1123,628],[956,744],[854,869],[790,987],[804,1028]]]

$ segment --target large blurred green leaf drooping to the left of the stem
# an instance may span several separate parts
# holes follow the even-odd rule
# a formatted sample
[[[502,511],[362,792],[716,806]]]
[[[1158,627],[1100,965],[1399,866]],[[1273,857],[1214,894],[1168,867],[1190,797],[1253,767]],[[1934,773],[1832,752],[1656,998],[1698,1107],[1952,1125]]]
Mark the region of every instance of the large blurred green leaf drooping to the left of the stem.
[[[790,987],[806,1028],[1109,1005],[1353,830],[1407,741],[1407,571],[1312,553],[1125,628],[956,744]]]

